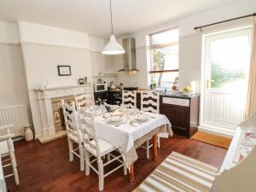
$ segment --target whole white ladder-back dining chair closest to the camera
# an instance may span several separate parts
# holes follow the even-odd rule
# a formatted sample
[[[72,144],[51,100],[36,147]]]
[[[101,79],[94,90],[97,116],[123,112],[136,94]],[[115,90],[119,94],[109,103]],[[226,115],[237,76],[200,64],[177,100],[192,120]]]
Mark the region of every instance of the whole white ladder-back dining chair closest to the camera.
[[[96,125],[92,113],[88,113],[84,108],[79,109],[79,127],[81,128],[84,144],[84,156],[85,156],[85,174],[90,175],[90,168],[98,174],[99,177],[99,190],[104,188],[104,177],[107,177],[112,172],[115,172],[120,167],[124,167],[124,174],[127,174],[124,161],[119,160],[121,155],[114,156],[111,154],[116,148],[112,144],[106,142],[97,137]],[[107,155],[108,161],[103,163],[103,156]],[[94,160],[90,160],[90,157],[94,156]],[[113,161],[119,161],[121,165],[115,167],[112,171],[104,173],[104,167],[108,166]],[[93,162],[97,162],[97,169],[92,166]]]

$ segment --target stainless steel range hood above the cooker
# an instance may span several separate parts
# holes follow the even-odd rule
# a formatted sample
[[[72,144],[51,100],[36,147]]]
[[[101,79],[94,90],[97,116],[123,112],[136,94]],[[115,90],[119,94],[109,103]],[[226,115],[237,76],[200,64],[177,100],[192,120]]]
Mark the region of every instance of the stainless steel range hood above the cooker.
[[[135,72],[138,71],[136,67],[136,47],[135,38],[124,38],[123,47],[125,49],[124,54],[124,68],[120,69],[119,72]]]

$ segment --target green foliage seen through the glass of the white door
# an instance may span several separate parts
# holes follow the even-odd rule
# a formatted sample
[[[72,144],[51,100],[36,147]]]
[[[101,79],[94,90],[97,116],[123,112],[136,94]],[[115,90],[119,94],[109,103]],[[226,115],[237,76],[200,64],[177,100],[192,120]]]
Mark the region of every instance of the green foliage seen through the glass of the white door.
[[[230,83],[236,80],[244,79],[246,73],[239,70],[227,70],[221,67],[218,63],[212,63],[211,72],[211,87],[219,88],[226,83]]]

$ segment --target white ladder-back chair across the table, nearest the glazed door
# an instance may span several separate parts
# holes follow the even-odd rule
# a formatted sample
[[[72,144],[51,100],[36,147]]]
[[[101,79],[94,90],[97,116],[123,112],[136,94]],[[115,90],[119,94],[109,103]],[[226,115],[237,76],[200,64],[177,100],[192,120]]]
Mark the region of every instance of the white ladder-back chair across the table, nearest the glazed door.
[[[142,92],[141,93],[141,111],[150,113],[160,113],[160,94],[154,94],[154,92]],[[160,148],[160,137],[158,134],[157,145]],[[147,158],[149,159],[149,149],[152,148],[152,144],[149,145],[149,140],[146,143]]]

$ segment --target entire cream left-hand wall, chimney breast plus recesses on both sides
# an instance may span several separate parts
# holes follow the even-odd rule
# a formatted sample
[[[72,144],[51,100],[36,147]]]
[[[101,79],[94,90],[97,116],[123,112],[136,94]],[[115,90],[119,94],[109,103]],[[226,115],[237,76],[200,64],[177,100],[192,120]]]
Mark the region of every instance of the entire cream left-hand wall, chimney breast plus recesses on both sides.
[[[105,43],[84,32],[0,21],[0,107],[26,103],[39,136],[42,125],[34,89],[42,83],[49,87],[78,84],[84,76],[92,82],[92,70],[113,73],[112,57],[101,54]],[[57,65],[70,65],[72,75],[58,76]]]

